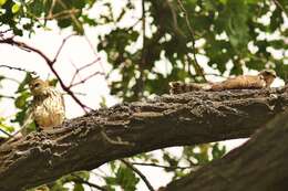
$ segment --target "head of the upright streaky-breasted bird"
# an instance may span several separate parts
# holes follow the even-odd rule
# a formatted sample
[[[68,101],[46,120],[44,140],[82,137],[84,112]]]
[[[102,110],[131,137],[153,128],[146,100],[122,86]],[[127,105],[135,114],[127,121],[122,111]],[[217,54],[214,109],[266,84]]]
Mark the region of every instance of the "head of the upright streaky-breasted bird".
[[[30,92],[33,96],[44,96],[47,95],[47,88],[49,83],[40,78],[34,78],[29,83]]]

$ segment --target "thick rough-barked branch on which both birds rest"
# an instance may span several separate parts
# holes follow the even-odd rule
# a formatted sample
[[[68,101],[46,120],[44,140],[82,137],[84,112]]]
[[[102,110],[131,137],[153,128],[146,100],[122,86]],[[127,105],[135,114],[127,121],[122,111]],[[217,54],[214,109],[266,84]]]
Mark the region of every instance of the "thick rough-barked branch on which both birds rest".
[[[169,146],[251,135],[288,106],[281,89],[197,92],[117,105],[0,146],[0,190],[17,191]],[[130,146],[107,141],[121,138]]]

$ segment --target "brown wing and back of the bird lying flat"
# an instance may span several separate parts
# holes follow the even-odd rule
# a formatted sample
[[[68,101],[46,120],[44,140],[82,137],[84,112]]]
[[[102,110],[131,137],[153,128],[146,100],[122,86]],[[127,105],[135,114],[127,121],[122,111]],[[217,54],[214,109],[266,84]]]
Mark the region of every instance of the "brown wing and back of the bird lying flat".
[[[257,76],[241,75],[234,78],[228,78],[222,83],[213,84],[213,91],[224,89],[245,89],[245,88],[263,88],[265,87],[265,81]]]

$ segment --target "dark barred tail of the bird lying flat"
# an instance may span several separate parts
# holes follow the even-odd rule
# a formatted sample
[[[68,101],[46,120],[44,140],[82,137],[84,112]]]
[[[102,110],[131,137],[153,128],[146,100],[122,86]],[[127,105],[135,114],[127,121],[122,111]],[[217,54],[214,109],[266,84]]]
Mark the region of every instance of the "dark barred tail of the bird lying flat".
[[[196,84],[196,83],[183,83],[183,82],[171,82],[169,83],[171,94],[183,94],[193,91],[208,91],[210,89],[209,84]]]

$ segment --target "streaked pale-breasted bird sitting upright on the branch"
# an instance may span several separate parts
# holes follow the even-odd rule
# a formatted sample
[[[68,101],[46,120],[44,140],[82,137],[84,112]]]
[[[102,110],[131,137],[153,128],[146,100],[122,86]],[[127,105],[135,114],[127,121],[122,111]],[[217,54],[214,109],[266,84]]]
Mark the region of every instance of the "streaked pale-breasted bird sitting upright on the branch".
[[[62,94],[49,82],[34,78],[29,83],[30,92],[33,96],[31,108],[22,126],[22,134],[31,123],[35,123],[39,129],[52,129],[61,125],[65,118],[65,107]]]

